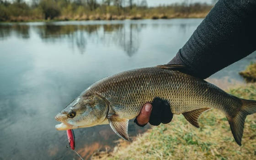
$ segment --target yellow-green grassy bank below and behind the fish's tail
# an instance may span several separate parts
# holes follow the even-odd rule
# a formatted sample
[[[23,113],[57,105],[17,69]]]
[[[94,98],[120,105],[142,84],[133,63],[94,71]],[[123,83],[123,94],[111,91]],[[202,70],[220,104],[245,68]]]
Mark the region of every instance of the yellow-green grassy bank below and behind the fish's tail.
[[[256,99],[256,84],[230,89],[229,93]],[[169,124],[152,127],[133,138],[120,140],[112,152],[97,152],[93,160],[250,160],[256,157],[256,115],[245,120],[242,146],[235,143],[229,123],[218,110],[209,110],[195,128],[182,115]]]

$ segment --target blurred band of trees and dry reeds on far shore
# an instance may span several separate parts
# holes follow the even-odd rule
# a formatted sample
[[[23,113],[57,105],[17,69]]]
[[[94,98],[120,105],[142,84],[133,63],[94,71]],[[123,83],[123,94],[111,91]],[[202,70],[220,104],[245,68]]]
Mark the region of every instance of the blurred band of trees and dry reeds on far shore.
[[[205,3],[148,7],[146,0],[0,0],[0,21],[112,20],[204,17]]]

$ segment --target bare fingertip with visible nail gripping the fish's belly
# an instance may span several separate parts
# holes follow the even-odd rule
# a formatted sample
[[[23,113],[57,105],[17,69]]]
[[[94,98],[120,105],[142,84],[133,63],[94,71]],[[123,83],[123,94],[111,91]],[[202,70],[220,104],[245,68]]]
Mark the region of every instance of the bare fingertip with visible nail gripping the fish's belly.
[[[151,111],[152,111],[152,105],[150,103],[146,103],[141,109],[139,115],[137,116],[137,122],[140,125],[144,125],[148,123]]]

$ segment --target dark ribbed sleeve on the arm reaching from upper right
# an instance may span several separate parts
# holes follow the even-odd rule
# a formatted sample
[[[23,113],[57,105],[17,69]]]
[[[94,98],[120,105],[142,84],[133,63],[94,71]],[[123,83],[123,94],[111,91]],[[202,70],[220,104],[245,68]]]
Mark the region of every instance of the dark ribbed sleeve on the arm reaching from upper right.
[[[219,0],[169,64],[205,79],[256,50],[256,0]]]

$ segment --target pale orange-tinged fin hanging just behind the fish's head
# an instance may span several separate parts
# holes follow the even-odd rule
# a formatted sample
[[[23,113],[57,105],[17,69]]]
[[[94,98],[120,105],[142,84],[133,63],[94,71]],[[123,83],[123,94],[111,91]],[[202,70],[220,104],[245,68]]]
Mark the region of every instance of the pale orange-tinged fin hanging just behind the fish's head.
[[[113,131],[122,139],[129,140],[128,136],[128,122],[129,119],[119,118],[115,115],[109,116],[108,121]]]

